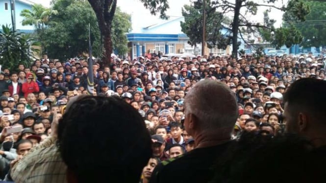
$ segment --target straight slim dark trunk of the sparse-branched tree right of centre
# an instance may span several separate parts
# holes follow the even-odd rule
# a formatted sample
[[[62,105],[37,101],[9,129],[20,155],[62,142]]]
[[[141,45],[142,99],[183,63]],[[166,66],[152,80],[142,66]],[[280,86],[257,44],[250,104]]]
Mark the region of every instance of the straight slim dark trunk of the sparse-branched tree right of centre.
[[[232,57],[238,57],[238,33],[239,33],[239,16],[242,0],[235,1],[234,18],[232,24]]]

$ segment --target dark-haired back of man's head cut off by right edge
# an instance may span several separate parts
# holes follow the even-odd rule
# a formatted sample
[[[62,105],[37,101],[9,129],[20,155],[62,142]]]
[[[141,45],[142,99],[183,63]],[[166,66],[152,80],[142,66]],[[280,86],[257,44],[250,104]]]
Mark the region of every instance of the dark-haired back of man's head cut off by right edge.
[[[322,130],[321,133],[325,132],[325,93],[326,81],[324,80],[303,78],[291,84],[283,96],[288,132],[297,133],[300,131],[298,125],[300,114],[301,116],[304,115],[309,123],[307,129],[312,129],[314,126],[314,130],[319,129]],[[302,117],[300,120],[303,120]],[[322,129],[322,126],[325,128]]]

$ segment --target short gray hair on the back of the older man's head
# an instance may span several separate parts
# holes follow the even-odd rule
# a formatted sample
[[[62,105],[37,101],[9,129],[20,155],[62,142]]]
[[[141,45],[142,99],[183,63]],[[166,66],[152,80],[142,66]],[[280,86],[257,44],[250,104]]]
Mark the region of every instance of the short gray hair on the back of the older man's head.
[[[202,80],[187,93],[185,114],[195,115],[202,130],[234,128],[238,118],[238,105],[234,92],[216,80]]]

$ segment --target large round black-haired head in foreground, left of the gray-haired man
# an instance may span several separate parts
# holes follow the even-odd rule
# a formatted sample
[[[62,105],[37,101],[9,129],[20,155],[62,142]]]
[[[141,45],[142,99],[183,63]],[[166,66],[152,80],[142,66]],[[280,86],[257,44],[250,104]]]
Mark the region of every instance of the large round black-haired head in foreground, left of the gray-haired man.
[[[152,154],[144,120],[115,97],[86,96],[71,104],[59,121],[58,145],[68,176],[78,183],[138,183]]]

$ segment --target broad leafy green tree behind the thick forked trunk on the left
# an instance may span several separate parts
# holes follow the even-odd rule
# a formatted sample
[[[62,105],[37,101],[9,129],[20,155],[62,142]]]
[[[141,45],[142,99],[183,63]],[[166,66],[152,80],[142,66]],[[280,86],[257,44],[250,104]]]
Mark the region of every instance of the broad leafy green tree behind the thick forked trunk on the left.
[[[50,58],[64,60],[88,53],[88,25],[91,27],[93,55],[102,56],[103,41],[97,17],[86,0],[54,0],[51,9],[57,14],[50,17],[44,32],[39,33],[45,43]],[[117,8],[112,22],[112,41],[118,54],[127,52],[125,33],[131,29],[130,15]],[[43,34],[43,35],[41,35]]]

